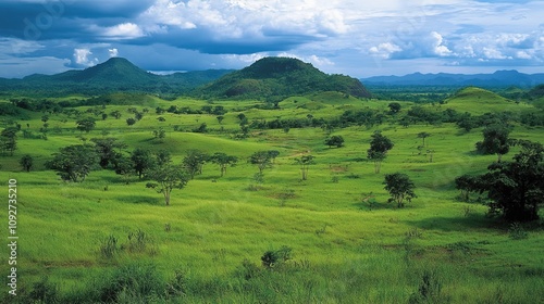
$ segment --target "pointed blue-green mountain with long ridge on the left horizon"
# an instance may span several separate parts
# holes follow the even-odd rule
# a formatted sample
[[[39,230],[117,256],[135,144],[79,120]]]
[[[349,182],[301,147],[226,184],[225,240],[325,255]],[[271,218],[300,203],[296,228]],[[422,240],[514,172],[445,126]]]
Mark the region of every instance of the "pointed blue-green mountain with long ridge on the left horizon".
[[[160,76],[137,67],[126,59],[112,58],[83,71],[72,69],[55,75],[34,74],[23,79],[0,78],[0,91],[38,94],[101,94],[116,91],[176,94],[193,90],[231,72],[212,69]]]

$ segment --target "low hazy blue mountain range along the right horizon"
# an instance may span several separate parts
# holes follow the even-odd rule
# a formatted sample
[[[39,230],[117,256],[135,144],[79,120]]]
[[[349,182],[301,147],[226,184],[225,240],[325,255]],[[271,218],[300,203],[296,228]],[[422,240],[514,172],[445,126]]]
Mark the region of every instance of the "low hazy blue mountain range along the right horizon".
[[[361,79],[368,86],[442,86],[497,88],[517,86],[531,88],[544,84],[544,74],[523,74],[518,71],[497,71],[493,74],[421,74],[406,76],[376,76]]]

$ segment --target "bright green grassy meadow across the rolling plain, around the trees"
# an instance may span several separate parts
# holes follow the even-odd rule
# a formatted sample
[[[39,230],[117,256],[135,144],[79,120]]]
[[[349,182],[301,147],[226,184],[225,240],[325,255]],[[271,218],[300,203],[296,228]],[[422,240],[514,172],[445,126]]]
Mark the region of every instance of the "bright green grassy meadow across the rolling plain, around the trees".
[[[67,97],[66,100],[79,97]],[[8,102],[8,101],[4,101]],[[467,132],[455,124],[400,126],[394,118],[376,126],[251,129],[236,138],[237,115],[249,122],[279,117],[331,118],[347,110],[388,110],[391,101],[338,93],[292,97],[280,109],[260,101],[203,101],[151,98],[131,105],[146,112],[127,126],[126,105],[106,105],[122,117],[97,121],[90,132],[75,129],[66,114],[50,114],[47,140],[17,139],[13,156],[0,157],[0,180],[17,180],[17,295],[4,303],[544,303],[543,223],[510,225],[486,214],[478,202],[462,202],[454,179],[482,174],[496,155],[480,155],[482,128]],[[397,101],[401,113],[412,103]],[[157,106],[200,109],[222,105],[217,115],[154,113]],[[432,111],[454,109],[474,115],[533,111],[531,104],[497,99],[486,91],[459,96]],[[85,111],[92,106],[81,106]],[[144,111],[148,109],[149,111]],[[17,121],[38,134],[44,113]],[[164,122],[157,118],[161,116]],[[7,117],[4,117],[7,118]],[[5,121],[5,119],[4,119]],[[206,123],[208,132],[193,132]],[[27,125],[28,124],[28,125]],[[152,130],[163,128],[165,138]],[[394,142],[380,174],[367,160],[375,130]],[[542,127],[516,124],[511,138],[543,142]],[[425,147],[420,132],[429,132]],[[329,148],[332,135],[345,147]],[[172,192],[170,206],[137,176],[94,170],[81,183],[62,181],[45,168],[62,147],[90,138],[114,137],[135,148],[165,149],[180,163],[188,151],[224,152],[239,162],[221,177],[215,164],[186,188]],[[263,180],[247,162],[261,150],[280,155]],[[512,148],[504,156],[510,160]],[[432,153],[432,155],[431,155]],[[18,160],[30,154],[32,172]],[[316,164],[301,180],[295,159],[311,154]],[[432,159],[431,159],[432,157]],[[387,203],[384,175],[401,172],[416,185],[406,207]],[[5,190],[7,191],[7,190]],[[5,201],[5,200],[4,200]],[[542,212],[541,212],[542,216]],[[2,214],[8,223],[8,213]],[[8,233],[4,228],[4,235]],[[115,250],[112,249],[115,240]],[[273,267],[265,252],[283,252]],[[9,256],[3,246],[2,256]],[[10,265],[0,264],[7,277]],[[5,280],[5,279],[4,279]],[[5,296],[4,296],[5,295]]]

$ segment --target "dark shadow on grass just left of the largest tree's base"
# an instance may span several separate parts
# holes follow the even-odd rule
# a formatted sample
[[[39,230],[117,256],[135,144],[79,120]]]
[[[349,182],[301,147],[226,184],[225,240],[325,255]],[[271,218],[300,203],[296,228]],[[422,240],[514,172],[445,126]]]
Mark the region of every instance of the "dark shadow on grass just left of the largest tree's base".
[[[468,229],[495,229],[498,228],[496,219],[484,215],[470,214],[459,217],[429,217],[419,220],[405,220],[404,223],[420,229],[438,229],[442,231],[466,231]]]

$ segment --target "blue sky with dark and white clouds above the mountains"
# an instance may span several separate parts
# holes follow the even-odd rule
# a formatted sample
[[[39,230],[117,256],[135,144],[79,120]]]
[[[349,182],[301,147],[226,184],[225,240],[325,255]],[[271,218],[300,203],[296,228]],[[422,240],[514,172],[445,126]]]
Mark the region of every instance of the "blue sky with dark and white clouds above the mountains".
[[[544,73],[544,0],[2,0],[0,77],[297,58],[353,77]]]

